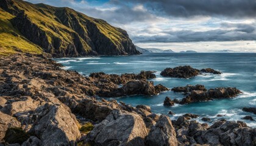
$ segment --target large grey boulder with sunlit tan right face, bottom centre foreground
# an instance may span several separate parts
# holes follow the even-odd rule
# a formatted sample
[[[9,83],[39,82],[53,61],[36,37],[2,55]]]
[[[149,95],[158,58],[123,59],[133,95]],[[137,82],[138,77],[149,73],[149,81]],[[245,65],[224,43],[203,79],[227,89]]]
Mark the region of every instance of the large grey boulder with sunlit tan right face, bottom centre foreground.
[[[85,143],[96,145],[141,144],[148,134],[143,119],[138,114],[115,109],[87,135]]]

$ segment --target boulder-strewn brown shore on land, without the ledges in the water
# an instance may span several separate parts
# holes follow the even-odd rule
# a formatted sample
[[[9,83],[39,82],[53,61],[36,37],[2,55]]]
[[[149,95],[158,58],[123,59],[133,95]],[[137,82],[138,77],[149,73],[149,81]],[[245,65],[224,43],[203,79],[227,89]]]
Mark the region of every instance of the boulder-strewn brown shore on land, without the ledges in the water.
[[[4,125],[1,136],[9,134],[12,127],[20,127],[30,136],[30,140],[23,142],[29,143],[34,139],[44,145],[70,145],[72,142],[84,145],[154,145],[156,141],[163,145],[254,145],[256,142],[256,128],[247,127],[241,121],[220,120],[208,126],[193,120],[193,114],[171,120],[168,116],[152,113],[146,105],[132,107],[116,100],[96,100],[93,97],[104,81],[60,69],[61,65],[49,57],[47,54],[22,54],[1,58],[0,113],[13,121],[7,122],[9,125],[1,123]],[[93,130],[86,134],[79,131],[88,122],[93,123]],[[126,130],[122,131],[121,127]],[[52,131],[52,128],[57,131]],[[119,132],[112,133],[110,137],[108,132],[112,130]],[[158,134],[166,137],[159,139]],[[56,137],[59,135],[66,138]],[[104,140],[107,138],[115,141]],[[10,142],[6,137],[1,139]]]

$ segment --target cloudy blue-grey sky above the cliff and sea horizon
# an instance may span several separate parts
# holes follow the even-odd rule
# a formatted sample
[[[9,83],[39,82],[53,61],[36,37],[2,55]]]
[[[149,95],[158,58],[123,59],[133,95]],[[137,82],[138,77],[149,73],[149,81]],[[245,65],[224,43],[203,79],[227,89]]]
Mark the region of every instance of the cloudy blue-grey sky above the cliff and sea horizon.
[[[144,48],[256,52],[256,0],[26,0],[107,21]]]

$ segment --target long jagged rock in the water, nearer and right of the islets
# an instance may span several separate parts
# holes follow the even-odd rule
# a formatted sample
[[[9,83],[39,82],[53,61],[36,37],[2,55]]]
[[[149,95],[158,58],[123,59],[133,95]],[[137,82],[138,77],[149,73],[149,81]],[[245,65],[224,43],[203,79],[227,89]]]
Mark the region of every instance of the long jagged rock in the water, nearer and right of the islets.
[[[208,89],[208,91],[191,91],[190,95],[183,98],[180,104],[186,104],[191,102],[201,102],[212,99],[231,98],[240,94],[241,91],[236,88],[215,88]]]

